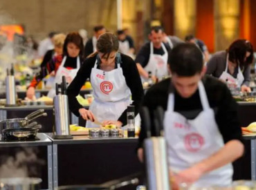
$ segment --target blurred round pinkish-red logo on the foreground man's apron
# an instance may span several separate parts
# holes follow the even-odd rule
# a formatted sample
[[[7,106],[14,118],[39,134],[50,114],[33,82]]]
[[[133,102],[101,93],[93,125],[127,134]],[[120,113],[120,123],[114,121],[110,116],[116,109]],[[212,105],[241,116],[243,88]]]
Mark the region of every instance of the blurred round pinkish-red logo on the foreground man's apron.
[[[204,139],[201,135],[199,135],[198,133],[190,133],[188,135],[185,135],[185,148],[187,149],[187,151],[190,152],[197,152],[199,151],[204,142]]]

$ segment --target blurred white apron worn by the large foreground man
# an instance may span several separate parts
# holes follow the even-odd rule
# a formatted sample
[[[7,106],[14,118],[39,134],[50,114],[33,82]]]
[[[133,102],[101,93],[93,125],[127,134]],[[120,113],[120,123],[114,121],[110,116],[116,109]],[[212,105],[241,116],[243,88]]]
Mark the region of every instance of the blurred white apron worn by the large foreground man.
[[[199,82],[199,95],[203,111],[193,120],[187,120],[174,111],[174,94],[170,93],[167,111],[165,112],[165,138],[170,169],[176,173],[209,158],[223,146],[223,137],[219,132],[210,108],[203,83]],[[228,186],[232,182],[232,164],[206,173],[195,187]]]

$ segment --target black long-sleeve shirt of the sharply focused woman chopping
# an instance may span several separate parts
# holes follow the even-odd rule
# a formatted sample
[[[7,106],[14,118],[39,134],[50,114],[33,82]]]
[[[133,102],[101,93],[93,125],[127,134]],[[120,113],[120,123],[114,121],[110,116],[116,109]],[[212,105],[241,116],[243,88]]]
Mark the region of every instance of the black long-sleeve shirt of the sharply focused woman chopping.
[[[90,79],[91,69],[95,65],[96,57],[97,55],[84,60],[84,63],[80,70],[78,70],[75,79],[73,79],[73,82],[71,82],[67,89],[69,108],[77,116],[80,115],[79,109],[83,107],[77,102],[75,97],[80,92],[80,89],[84,82],[86,82],[86,79]],[[131,99],[133,100],[132,105],[135,106],[135,114],[137,115],[144,95],[140,75],[138,74],[135,62],[131,57],[121,54],[121,60],[122,63],[120,64],[120,67],[122,68],[122,73],[125,77],[127,86],[131,90]],[[123,125],[127,124],[127,110],[120,113],[118,121],[122,122]]]

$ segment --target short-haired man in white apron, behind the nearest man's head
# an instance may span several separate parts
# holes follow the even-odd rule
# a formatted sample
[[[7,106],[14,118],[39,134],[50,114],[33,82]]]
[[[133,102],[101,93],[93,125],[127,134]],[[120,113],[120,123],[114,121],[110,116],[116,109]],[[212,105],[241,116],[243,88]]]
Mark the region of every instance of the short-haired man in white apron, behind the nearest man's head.
[[[140,49],[135,59],[143,82],[148,79],[149,71],[152,73],[153,79],[158,78],[161,80],[168,75],[167,52],[170,50],[170,47],[163,44],[163,29],[158,26],[153,27],[149,39],[151,42],[146,43]]]

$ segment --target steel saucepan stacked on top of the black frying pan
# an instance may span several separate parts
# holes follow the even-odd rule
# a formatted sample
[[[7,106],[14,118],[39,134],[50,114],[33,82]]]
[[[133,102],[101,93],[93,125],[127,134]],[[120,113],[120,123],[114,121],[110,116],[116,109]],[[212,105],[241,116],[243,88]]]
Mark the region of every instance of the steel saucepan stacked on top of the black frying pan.
[[[15,118],[15,119],[8,119],[8,120],[1,120],[0,121],[0,130],[3,129],[19,129],[21,127],[28,126],[29,122],[35,120],[37,117],[46,116],[47,113],[44,113],[44,109],[39,109],[30,113],[25,118]]]

